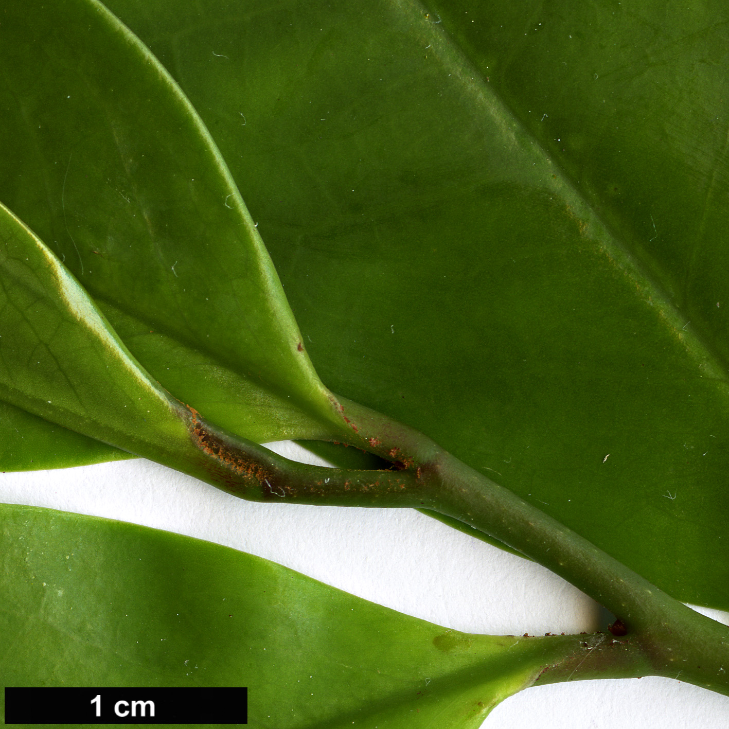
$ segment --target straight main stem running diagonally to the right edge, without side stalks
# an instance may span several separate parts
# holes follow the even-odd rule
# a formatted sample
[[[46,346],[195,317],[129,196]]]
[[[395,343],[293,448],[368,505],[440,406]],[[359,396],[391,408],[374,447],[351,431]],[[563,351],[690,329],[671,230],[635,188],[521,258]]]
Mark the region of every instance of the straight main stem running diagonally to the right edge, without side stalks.
[[[729,628],[698,614],[571,529],[443,451],[426,436],[341,400],[356,436],[416,469],[434,510],[486,531],[613,612],[651,673],[729,694]],[[375,435],[376,434],[376,435]],[[375,441],[373,441],[375,439]]]

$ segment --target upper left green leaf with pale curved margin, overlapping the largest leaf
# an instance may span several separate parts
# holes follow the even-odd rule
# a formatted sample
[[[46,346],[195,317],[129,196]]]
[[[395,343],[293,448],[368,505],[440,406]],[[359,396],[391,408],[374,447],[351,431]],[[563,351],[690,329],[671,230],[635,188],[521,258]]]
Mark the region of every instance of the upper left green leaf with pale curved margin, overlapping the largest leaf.
[[[0,200],[184,402],[252,440],[337,433],[225,163],[147,48],[93,0],[0,23]]]

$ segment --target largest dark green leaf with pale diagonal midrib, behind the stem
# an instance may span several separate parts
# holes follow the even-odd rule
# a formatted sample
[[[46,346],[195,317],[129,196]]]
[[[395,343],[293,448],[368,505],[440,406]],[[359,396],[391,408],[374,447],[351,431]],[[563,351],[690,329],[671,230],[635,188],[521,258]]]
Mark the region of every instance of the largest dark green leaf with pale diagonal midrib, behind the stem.
[[[109,7],[200,110],[328,386],[729,607],[725,7]]]

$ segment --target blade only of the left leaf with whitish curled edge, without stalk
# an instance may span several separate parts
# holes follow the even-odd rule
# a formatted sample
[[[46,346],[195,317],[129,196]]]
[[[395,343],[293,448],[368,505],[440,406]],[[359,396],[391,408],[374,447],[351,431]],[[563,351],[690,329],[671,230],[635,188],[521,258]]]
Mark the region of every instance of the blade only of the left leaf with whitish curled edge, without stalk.
[[[190,443],[187,410],[149,378],[57,257],[0,206],[0,399],[137,455]]]

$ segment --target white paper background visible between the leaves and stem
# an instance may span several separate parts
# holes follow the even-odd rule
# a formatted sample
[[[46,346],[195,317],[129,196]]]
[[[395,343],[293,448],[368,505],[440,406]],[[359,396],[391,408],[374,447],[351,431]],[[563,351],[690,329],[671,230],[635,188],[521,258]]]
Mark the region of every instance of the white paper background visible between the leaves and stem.
[[[273,447],[323,463],[292,443]],[[604,620],[592,600],[546,569],[412,510],[254,504],[143,460],[0,474],[0,502],[208,539],[459,631],[574,633]],[[729,623],[729,614],[705,612]],[[523,691],[484,726],[727,729],[729,698],[671,679],[581,681]]]

